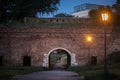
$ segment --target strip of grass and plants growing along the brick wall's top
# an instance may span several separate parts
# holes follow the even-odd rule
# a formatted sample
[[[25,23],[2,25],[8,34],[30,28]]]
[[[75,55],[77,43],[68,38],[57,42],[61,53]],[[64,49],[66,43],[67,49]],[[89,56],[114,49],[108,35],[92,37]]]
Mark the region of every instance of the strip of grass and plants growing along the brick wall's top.
[[[64,19],[64,18],[63,18]],[[69,19],[68,19],[69,20]],[[37,19],[37,18],[28,18],[25,22],[15,21],[13,20],[11,23],[2,23],[0,24],[0,27],[7,27],[7,28],[70,28],[70,27],[76,27],[76,28],[96,28],[99,26],[96,21],[92,21],[90,19],[80,19],[80,20],[74,20],[74,21],[68,21],[67,19],[64,19],[64,22],[50,22],[50,20],[47,19]],[[89,27],[88,27],[89,26]]]

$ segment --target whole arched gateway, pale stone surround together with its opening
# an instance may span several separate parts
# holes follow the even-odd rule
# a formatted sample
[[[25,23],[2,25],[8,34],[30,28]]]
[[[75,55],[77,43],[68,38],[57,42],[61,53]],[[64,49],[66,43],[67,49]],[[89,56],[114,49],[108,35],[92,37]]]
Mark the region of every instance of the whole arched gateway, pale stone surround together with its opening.
[[[57,64],[63,68],[77,65],[75,54],[65,48],[52,49],[48,54],[44,55],[43,62],[43,66],[49,68],[56,67]]]

